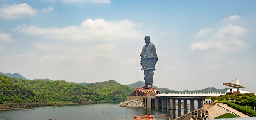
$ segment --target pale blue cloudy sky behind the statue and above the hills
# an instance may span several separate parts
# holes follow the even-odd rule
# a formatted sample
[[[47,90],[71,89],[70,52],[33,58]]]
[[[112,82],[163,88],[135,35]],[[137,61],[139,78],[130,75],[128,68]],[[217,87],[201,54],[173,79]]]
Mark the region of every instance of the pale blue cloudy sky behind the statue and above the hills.
[[[122,85],[144,81],[144,37],[159,61],[153,85],[256,93],[256,0],[0,0],[0,72]],[[233,82],[234,83],[234,82]]]

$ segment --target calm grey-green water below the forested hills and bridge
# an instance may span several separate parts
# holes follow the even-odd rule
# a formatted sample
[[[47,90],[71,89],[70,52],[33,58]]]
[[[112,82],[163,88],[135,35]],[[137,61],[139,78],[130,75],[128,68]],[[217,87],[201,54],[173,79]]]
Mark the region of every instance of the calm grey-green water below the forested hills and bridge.
[[[172,119],[188,112],[161,108],[119,107],[119,103],[69,104],[31,107],[35,110],[0,111],[0,120],[116,120],[132,119],[135,115],[170,115]],[[162,111],[163,110],[163,111]]]

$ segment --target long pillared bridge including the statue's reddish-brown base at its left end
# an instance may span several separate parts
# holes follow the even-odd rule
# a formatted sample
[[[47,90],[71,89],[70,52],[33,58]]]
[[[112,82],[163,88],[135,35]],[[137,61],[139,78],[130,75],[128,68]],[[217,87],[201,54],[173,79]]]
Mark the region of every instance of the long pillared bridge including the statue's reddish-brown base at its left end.
[[[192,92],[192,93],[160,93],[156,88],[137,88],[136,91],[127,96],[127,101],[137,99],[144,103],[147,108],[164,108],[181,110],[183,101],[183,110],[188,110],[188,100],[190,101],[190,111],[195,110],[195,101],[198,102],[198,109],[202,107],[206,97],[225,95],[221,92]]]

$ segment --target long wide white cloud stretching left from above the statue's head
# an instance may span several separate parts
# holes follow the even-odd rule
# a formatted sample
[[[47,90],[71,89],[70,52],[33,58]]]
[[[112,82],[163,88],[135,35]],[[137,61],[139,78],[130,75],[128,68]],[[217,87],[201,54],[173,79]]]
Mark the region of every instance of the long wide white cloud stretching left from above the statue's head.
[[[81,26],[68,26],[65,28],[37,26],[28,27],[26,24],[19,25],[15,29],[35,35],[56,40],[122,40],[123,38],[134,39],[142,36],[141,31],[137,31],[134,24],[129,20],[105,21],[104,19],[87,19]]]

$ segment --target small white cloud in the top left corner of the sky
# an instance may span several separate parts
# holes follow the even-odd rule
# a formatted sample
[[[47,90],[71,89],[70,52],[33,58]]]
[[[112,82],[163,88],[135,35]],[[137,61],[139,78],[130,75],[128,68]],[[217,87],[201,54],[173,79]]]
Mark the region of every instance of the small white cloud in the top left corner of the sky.
[[[24,16],[35,15],[37,13],[36,9],[33,9],[26,3],[23,4],[13,4],[13,5],[2,5],[0,8],[0,16],[6,19],[17,19]]]

